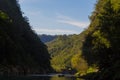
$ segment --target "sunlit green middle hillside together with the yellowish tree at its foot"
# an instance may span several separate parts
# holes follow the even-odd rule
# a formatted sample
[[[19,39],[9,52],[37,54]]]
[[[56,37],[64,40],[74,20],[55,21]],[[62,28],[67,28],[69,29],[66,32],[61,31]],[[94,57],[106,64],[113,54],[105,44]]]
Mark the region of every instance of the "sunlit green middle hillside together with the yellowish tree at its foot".
[[[92,69],[82,57],[82,43],[85,32],[80,35],[61,35],[47,43],[52,60],[51,65],[56,71],[76,70],[85,74]],[[93,71],[93,69],[92,69]]]

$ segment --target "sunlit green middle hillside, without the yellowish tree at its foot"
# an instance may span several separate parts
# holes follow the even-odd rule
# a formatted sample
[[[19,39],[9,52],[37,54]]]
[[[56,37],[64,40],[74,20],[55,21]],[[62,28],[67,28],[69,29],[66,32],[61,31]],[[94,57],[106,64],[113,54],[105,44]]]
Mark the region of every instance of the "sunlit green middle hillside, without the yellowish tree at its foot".
[[[73,68],[71,59],[75,55],[81,55],[84,35],[84,32],[80,35],[61,35],[54,41],[47,43],[49,53],[52,57],[51,64],[56,71]],[[82,58],[82,56],[79,56],[79,58]],[[84,63],[86,64],[86,62]]]

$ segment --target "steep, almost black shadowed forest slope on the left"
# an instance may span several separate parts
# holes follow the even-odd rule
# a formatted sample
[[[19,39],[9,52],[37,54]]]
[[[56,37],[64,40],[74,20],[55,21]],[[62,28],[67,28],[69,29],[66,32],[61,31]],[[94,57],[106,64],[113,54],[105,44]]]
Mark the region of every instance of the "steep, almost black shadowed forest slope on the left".
[[[17,0],[0,0],[0,75],[50,71],[50,56]]]

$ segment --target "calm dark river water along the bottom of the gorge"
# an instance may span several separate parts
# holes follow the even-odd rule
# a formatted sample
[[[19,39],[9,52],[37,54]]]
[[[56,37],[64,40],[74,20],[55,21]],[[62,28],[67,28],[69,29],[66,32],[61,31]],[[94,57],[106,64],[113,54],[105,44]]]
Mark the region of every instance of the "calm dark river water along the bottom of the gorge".
[[[0,80],[84,80],[75,78],[71,75],[58,76],[58,75],[29,75],[29,76],[4,76]]]

